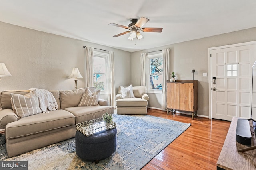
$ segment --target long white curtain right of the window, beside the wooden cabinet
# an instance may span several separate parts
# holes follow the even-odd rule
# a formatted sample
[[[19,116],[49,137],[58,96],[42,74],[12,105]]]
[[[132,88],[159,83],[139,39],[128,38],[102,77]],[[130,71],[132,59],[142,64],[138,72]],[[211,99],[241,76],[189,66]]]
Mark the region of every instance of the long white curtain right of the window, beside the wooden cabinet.
[[[166,110],[166,81],[170,79],[170,49],[163,49],[163,85],[162,85],[162,109]]]

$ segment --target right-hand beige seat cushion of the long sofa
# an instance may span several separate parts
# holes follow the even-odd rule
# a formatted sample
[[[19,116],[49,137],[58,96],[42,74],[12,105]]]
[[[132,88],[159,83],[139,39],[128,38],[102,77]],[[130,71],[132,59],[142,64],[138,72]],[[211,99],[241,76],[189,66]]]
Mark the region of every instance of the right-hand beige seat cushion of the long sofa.
[[[73,113],[76,116],[76,123],[89,121],[102,117],[104,113],[113,114],[114,107],[112,106],[81,106],[81,107],[68,107],[64,109]]]

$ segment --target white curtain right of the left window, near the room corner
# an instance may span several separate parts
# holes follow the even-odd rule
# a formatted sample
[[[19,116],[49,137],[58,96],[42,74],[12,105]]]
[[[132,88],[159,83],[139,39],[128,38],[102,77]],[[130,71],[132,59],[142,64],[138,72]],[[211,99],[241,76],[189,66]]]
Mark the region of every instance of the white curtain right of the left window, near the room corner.
[[[115,101],[115,81],[114,81],[114,52],[110,51],[107,61],[107,83],[108,83],[108,101],[110,106],[116,108]]]

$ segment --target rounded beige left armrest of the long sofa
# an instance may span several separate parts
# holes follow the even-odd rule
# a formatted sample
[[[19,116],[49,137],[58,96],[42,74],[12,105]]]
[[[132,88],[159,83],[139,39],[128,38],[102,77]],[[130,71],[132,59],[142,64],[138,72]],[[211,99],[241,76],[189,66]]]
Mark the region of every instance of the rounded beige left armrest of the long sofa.
[[[18,120],[18,116],[12,111],[12,109],[0,110],[0,125],[6,126],[8,123]]]

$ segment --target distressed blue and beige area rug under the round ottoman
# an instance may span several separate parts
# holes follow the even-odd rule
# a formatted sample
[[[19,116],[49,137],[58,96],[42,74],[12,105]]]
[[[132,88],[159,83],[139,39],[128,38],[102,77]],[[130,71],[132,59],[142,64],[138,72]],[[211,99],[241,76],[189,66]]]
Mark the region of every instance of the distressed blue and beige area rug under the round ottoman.
[[[190,126],[150,115],[114,114],[113,117],[117,149],[98,164],[76,155],[74,138],[12,158],[6,155],[3,144],[0,160],[27,160],[29,170],[139,170]]]

